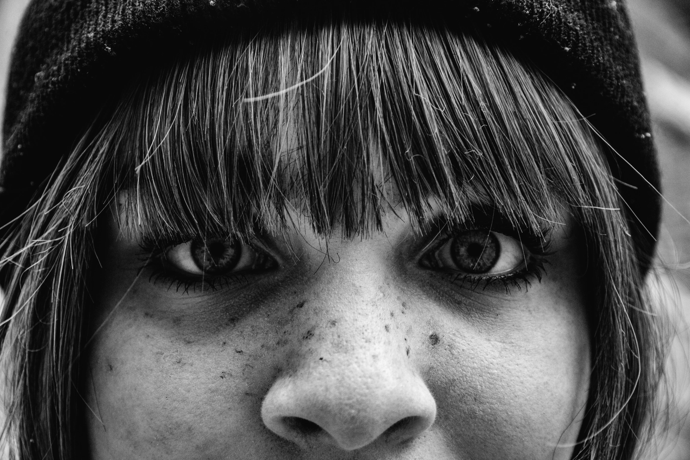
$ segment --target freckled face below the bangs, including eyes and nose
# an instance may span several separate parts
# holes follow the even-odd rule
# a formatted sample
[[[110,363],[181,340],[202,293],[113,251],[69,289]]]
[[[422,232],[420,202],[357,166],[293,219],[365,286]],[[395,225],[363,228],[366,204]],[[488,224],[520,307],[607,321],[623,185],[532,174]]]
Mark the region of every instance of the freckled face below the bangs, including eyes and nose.
[[[397,209],[366,239],[306,225],[140,270],[112,214],[93,460],[570,458],[590,368],[573,223],[536,256],[509,232],[415,234]]]

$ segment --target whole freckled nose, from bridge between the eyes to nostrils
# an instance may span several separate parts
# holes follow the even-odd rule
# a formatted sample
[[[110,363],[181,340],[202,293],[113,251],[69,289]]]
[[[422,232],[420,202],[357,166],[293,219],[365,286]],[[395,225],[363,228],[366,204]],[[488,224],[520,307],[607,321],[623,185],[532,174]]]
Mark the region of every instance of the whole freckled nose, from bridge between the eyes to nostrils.
[[[400,299],[383,274],[338,278],[315,283],[299,312],[295,323],[309,329],[264,398],[264,423],[298,444],[345,450],[410,439],[433,423],[435,401],[390,314]]]

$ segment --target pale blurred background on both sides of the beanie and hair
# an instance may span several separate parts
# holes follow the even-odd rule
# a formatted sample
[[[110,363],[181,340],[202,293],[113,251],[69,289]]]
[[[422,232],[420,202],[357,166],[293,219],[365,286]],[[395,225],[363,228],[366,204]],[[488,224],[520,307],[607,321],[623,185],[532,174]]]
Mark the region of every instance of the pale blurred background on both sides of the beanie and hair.
[[[0,0],[0,117],[12,41],[27,3]],[[673,329],[655,442],[643,458],[690,460],[690,0],[627,4],[642,55],[667,200],[658,246],[659,276],[650,283]]]

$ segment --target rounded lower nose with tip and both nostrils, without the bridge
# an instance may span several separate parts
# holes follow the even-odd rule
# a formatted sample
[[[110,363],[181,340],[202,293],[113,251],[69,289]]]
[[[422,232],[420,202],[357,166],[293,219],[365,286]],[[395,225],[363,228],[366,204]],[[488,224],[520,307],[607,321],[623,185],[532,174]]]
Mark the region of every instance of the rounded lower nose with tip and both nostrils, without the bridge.
[[[266,427],[298,445],[355,450],[377,439],[402,443],[431,426],[436,403],[417,374],[393,360],[354,361],[319,361],[320,369],[277,379],[262,404]]]

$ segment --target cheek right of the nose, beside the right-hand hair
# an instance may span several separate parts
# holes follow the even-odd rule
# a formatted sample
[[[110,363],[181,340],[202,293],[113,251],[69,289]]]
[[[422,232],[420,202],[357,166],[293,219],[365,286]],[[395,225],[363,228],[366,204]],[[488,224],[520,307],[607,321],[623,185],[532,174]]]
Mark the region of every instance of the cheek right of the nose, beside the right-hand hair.
[[[590,377],[578,292],[540,290],[477,321],[443,310],[428,382],[459,458],[570,458]]]

